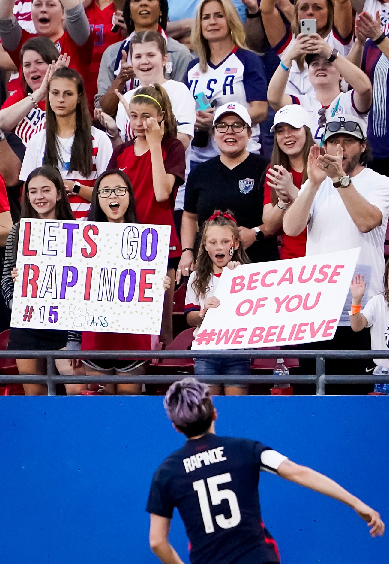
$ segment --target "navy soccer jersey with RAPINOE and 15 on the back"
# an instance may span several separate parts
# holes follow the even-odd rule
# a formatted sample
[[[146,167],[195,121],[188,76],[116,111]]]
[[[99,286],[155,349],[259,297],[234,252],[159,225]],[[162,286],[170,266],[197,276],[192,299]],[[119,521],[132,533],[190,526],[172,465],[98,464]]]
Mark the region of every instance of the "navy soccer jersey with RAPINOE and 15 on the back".
[[[276,455],[275,464],[265,451]],[[146,510],[171,519],[178,509],[192,564],[278,563],[261,518],[258,481],[260,470],[274,472],[283,460],[255,440],[214,434],[187,440],[155,472]]]

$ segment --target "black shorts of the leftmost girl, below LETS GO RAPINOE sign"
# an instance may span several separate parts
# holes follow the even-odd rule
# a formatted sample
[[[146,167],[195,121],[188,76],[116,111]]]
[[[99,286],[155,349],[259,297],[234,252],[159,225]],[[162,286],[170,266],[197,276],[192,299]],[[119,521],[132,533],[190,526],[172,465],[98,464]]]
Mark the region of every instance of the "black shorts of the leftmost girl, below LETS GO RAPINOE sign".
[[[66,347],[68,331],[11,327],[9,351],[57,351]]]

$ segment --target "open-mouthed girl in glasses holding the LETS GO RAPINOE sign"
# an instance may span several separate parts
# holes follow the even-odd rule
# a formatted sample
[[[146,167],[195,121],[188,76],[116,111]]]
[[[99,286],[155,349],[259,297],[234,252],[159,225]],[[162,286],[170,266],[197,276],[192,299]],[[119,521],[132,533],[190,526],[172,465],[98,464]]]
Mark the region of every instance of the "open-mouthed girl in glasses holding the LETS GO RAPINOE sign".
[[[135,213],[135,197],[131,182],[121,170],[108,170],[96,180],[92,193],[91,209],[88,221],[109,223],[138,223]],[[163,277],[163,288],[170,287],[168,276]],[[77,333],[71,333],[77,338]],[[68,348],[70,346],[68,345]],[[74,347],[72,347],[74,348]],[[83,331],[82,350],[151,350],[151,336],[147,334],[101,333]],[[104,376],[105,374],[129,373],[139,376],[145,373],[146,360],[114,359],[83,360],[87,376]],[[69,360],[73,368],[79,367],[80,360]],[[71,386],[71,385],[70,385]],[[116,387],[116,390],[115,390]],[[119,395],[140,394],[142,384],[108,384],[105,393]]]

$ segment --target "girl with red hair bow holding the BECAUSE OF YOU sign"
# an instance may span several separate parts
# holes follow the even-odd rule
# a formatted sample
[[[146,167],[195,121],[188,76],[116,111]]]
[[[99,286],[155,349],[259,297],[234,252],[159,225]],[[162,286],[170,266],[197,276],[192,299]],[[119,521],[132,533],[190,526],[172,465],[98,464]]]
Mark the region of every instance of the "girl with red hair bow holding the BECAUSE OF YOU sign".
[[[218,279],[225,266],[236,268],[249,261],[243,246],[240,244],[238,226],[231,211],[223,213],[214,211],[204,223],[203,235],[199,246],[196,270],[192,272],[186,287],[185,314],[191,327],[196,327],[194,337],[199,332],[207,310],[218,307],[220,301],[214,295]],[[225,307],[226,304],[224,304]],[[195,359],[194,373],[200,376],[207,374],[250,374],[249,359]],[[223,385],[211,386],[212,395],[221,394]],[[248,385],[225,384],[226,395],[245,395]]]

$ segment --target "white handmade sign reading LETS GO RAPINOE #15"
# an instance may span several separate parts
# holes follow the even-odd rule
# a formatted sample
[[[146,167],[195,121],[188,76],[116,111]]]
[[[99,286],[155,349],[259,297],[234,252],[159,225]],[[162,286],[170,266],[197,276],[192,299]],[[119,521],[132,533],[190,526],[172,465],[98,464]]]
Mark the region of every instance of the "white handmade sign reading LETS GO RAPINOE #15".
[[[12,327],[159,334],[170,229],[21,219]]]

